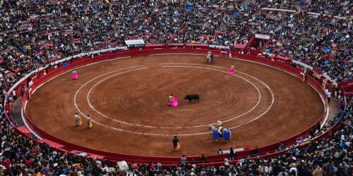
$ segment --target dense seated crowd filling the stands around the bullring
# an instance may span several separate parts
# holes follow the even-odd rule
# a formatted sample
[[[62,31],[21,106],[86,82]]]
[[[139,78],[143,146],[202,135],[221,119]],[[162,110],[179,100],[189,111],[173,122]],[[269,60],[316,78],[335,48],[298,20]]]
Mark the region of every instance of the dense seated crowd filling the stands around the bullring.
[[[285,8],[297,13],[262,8]],[[0,102],[8,99],[6,90],[32,70],[67,56],[124,46],[126,39],[144,39],[148,44],[232,47],[245,44],[253,34],[270,34],[266,53],[307,63],[336,82],[349,81],[353,68],[351,9],[352,3],[345,0],[1,0]],[[339,100],[343,102],[342,97]],[[341,104],[340,131],[309,144],[303,151],[293,148],[283,156],[244,158],[237,164],[226,160],[220,168],[196,166],[192,161],[177,168],[131,163],[128,175],[352,175],[352,102],[350,96],[346,109]],[[47,145],[39,146],[11,129],[2,103],[0,113],[0,175],[125,174],[107,161],[90,161],[58,153]],[[322,132],[313,132],[309,139]]]

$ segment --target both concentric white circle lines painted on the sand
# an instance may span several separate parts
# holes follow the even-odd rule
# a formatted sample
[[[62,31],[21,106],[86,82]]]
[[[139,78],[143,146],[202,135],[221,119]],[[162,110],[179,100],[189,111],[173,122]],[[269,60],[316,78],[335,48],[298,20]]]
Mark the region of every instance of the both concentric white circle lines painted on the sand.
[[[215,70],[215,69],[213,69],[213,68],[222,68],[222,67],[213,66],[213,65],[206,65],[206,66],[211,67],[211,68],[204,68],[204,67],[200,67],[200,66],[189,66],[189,65],[203,65],[203,64],[193,64],[193,63],[161,63],[160,65],[162,65],[162,68],[168,68],[168,67],[169,67],[169,68],[201,68],[201,69],[207,69],[207,70]],[[167,65],[167,66],[164,66],[164,65]],[[203,66],[205,66],[205,65],[203,65]],[[110,77],[114,77],[114,76],[116,76],[116,75],[121,75],[121,74],[124,74],[124,73],[136,71],[136,70],[147,69],[147,68],[144,67],[143,65],[138,65],[138,66],[129,67],[129,68],[136,68],[136,69],[128,70],[128,71],[125,71],[125,72],[123,72],[123,73],[114,74],[114,75],[112,75],[112,76],[109,76],[109,77],[104,78],[104,80],[107,80],[107,79],[109,79]],[[93,78],[92,80],[96,80],[98,77],[102,77],[102,76],[104,76],[104,75],[108,75],[108,74],[110,74],[110,73],[114,73],[114,72],[117,72],[117,71],[120,71],[120,70],[126,70],[126,69],[129,69],[129,68],[123,68],[123,69],[119,69],[119,70],[114,70],[114,71],[109,72],[109,73],[104,73],[104,74],[102,74],[102,75],[100,75],[100,76],[97,76],[97,77]],[[222,68],[222,69],[226,69],[226,70],[227,70],[227,68]],[[222,72],[222,73],[227,73],[227,71],[222,71],[222,70],[215,70],[215,71],[219,71],[219,72]],[[237,73],[241,73],[241,72],[237,71]],[[253,76],[251,76],[251,75],[248,75],[248,74],[246,74],[246,73],[241,73],[241,74],[247,75],[247,76],[249,76],[249,77],[252,77],[252,78],[255,79],[255,80],[258,80],[258,78],[253,77]],[[244,77],[240,77],[239,75],[233,75],[233,76],[236,76],[236,77],[239,77],[239,78],[241,78],[241,79],[243,79],[243,80],[246,80]],[[77,109],[83,116],[85,116],[85,114],[83,114],[83,112],[80,111],[80,109],[78,108],[77,103],[76,103],[76,96],[77,96],[78,92],[80,91],[80,89],[82,89],[83,87],[85,87],[86,84],[92,82],[92,80],[90,80],[90,81],[88,81],[88,82],[85,82],[85,84],[83,84],[83,85],[78,89],[78,91],[76,92],[76,94],[75,94],[75,96],[74,96],[74,104],[75,104],[75,106],[76,106],[76,109]],[[104,80],[101,80],[100,82],[103,82]],[[261,118],[263,115],[265,115],[265,113],[267,113],[267,112],[270,110],[270,108],[272,108],[273,102],[274,102],[274,96],[273,96],[272,90],[270,89],[270,87],[268,87],[267,84],[265,84],[265,83],[262,82],[261,80],[258,80],[258,81],[261,82],[262,84],[264,84],[265,87],[266,87],[266,88],[270,91],[270,93],[271,93],[272,101],[271,101],[271,103],[270,103],[270,106],[268,107],[268,109],[267,109],[264,113],[262,113],[261,115],[258,115],[256,118],[254,118],[254,119],[252,119],[252,120],[250,120],[250,121],[248,121],[248,122],[245,122],[245,123],[243,123],[243,124],[241,124],[241,125],[237,125],[237,126],[234,126],[234,127],[228,127],[228,129],[231,129],[231,130],[232,130],[232,129],[234,129],[234,128],[241,127],[242,125],[246,125],[246,124],[248,124],[249,122],[253,122],[254,120],[257,120],[258,118]],[[88,100],[88,103],[89,103],[89,105],[90,105],[90,108],[92,108],[94,111],[96,111],[96,112],[99,113],[100,115],[104,116],[104,118],[109,118],[107,115],[104,115],[103,113],[100,113],[99,111],[97,111],[97,110],[91,105],[91,103],[90,103],[90,99],[89,99],[90,92],[92,91],[92,89],[94,89],[94,87],[97,86],[97,84],[100,84],[100,82],[96,83],[93,87],[91,87],[91,89],[90,89],[90,91],[88,92],[88,95],[87,95],[87,100]],[[256,106],[258,106],[258,103],[259,103],[260,100],[261,100],[261,93],[260,93],[260,91],[258,90],[258,88],[255,86],[255,84],[253,84],[253,83],[250,82],[249,80],[246,80],[246,82],[249,82],[250,84],[252,84],[253,87],[255,87],[256,90],[258,91],[258,94],[259,94],[258,102],[256,103],[255,106],[253,106],[253,108],[251,108],[250,111],[248,111],[248,112],[246,112],[246,113],[243,113],[243,114],[241,114],[241,115],[237,115],[236,117],[229,118],[229,119],[227,119],[227,120],[223,120],[223,122],[229,122],[229,121],[234,120],[234,119],[237,119],[237,118],[239,118],[239,117],[241,117],[241,116],[243,116],[243,115],[246,115],[247,113],[250,113],[251,111],[253,111],[253,109],[256,108]],[[85,117],[86,117],[86,116],[85,116]],[[86,117],[86,118],[87,118],[87,117]],[[172,128],[174,128],[174,129],[178,129],[178,128],[179,128],[179,129],[180,129],[180,128],[191,128],[191,127],[205,127],[205,126],[210,125],[210,124],[208,124],[208,125],[196,125],[196,126],[191,126],[191,127],[155,127],[155,126],[147,126],[147,125],[132,124],[132,123],[128,123],[128,122],[124,122],[124,121],[116,120],[116,119],[112,119],[112,118],[109,118],[109,119],[114,120],[114,121],[116,121],[116,122],[124,123],[124,124],[126,124],[126,125],[135,125],[135,126],[138,126],[138,127],[151,127],[151,128],[171,128],[171,129],[172,129]],[[100,123],[100,122],[97,122],[97,121],[95,121],[95,120],[92,120],[92,121],[95,122],[95,123],[98,124],[98,125],[102,125],[102,126],[104,126],[104,127],[109,127],[109,128],[111,128],[111,129],[113,129],[113,130],[119,130],[119,131],[122,131],[122,132],[131,132],[131,133],[135,133],[135,134],[157,135],[157,136],[172,136],[172,135],[190,136],[190,135],[209,134],[209,133],[210,133],[210,132],[200,132],[200,133],[192,133],[192,134],[155,134],[155,133],[145,133],[145,132],[133,132],[133,131],[130,131],[130,130],[123,130],[123,129],[119,129],[119,128],[116,128],[116,127],[111,127],[111,126],[109,126],[109,125],[104,125],[104,124],[102,124],[102,123]]]

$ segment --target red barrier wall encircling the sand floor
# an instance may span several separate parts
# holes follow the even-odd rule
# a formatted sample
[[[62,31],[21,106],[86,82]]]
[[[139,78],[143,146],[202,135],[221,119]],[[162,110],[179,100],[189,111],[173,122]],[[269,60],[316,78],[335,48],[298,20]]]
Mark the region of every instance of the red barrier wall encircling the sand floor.
[[[107,52],[107,53],[104,53],[100,56],[96,56],[95,58],[90,58],[89,56],[86,56],[83,58],[75,58],[75,59],[69,60],[67,66],[63,67],[63,66],[61,66],[61,63],[59,63],[59,64],[57,64],[57,66],[58,66],[57,69],[47,68],[46,69],[47,75],[44,77],[40,77],[40,75],[42,75],[42,73],[37,73],[37,77],[32,79],[35,82],[35,84],[32,85],[31,89],[34,90],[34,89],[36,89],[36,87],[40,86],[41,84],[43,84],[47,80],[51,79],[52,77],[55,77],[56,75],[59,75],[61,73],[65,73],[66,71],[72,70],[73,68],[78,68],[80,66],[87,65],[89,63],[97,63],[100,61],[107,61],[112,58],[148,56],[151,54],[204,54],[204,55],[206,55],[208,51],[209,51],[209,49],[178,49],[178,48],[176,48],[176,49],[143,49],[142,51],[137,51],[137,50],[135,50],[135,51],[118,51],[118,52],[114,52],[114,53]],[[216,55],[220,54],[220,50],[214,49],[213,54],[216,54]],[[255,63],[261,63],[261,64],[268,65],[268,66],[271,66],[274,68],[278,68],[280,70],[284,70],[287,73],[291,73],[292,75],[295,75],[297,77],[299,77],[299,74],[301,72],[301,70],[299,68],[292,68],[285,63],[270,61],[268,59],[257,57],[257,56],[244,55],[244,54],[239,54],[237,52],[232,52],[232,56],[235,56],[236,58],[240,58],[240,59],[243,59],[246,61],[252,61]],[[24,82],[27,83],[27,80],[25,80]],[[318,91],[318,93],[324,97],[325,110],[326,110],[328,107],[327,98],[325,96],[325,92],[323,91],[323,89],[321,87],[321,84],[319,84],[313,77],[307,77],[306,82],[311,84],[311,86],[313,86],[314,89],[316,89]],[[20,89],[20,85],[17,87],[17,89]],[[32,94],[32,92],[33,91],[31,91],[30,94]],[[20,95],[20,94],[18,94],[18,95]],[[23,96],[23,105],[25,105],[26,99],[27,99],[26,96]],[[25,106],[23,106],[23,108],[25,108]],[[318,122],[321,122],[325,118],[325,115],[327,113],[328,112],[325,111],[325,113],[321,116],[321,118],[318,119]],[[48,139],[50,141],[53,141],[53,142],[56,142],[59,144],[62,144],[65,149],[69,149],[70,151],[76,150],[76,151],[83,151],[86,153],[91,153],[92,155],[105,156],[106,159],[109,159],[112,161],[125,160],[125,161],[135,161],[136,163],[148,163],[148,162],[152,161],[154,163],[160,162],[160,163],[163,163],[164,165],[176,165],[177,163],[180,162],[180,158],[176,158],[176,157],[132,156],[132,155],[124,155],[124,154],[120,154],[120,153],[109,153],[109,152],[104,152],[104,151],[97,151],[95,149],[88,149],[83,146],[78,146],[76,144],[71,144],[71,143],[68,143],[64,140],[57,139],[56,137],[53,137],[53,136],[47,134],[46,132],[41,130],[39,127],[37,127],[28,118],[28,116],[26,114],[25,114],[25,118],[26,118],[26,122],[28,123],[28,126],[33,131],[35,131],[37,134],[39,134],[42,138]],[[289,137],[288,139],[285,139],[284,141],[282,141],[282,143],[287,146],[295,144],[297,137],[302,137],[302,136],[308,134],[309,131],[315,126],[316,126],[316,124],[313,124],[311,127],[304,130],[304,132],[296,134],[293,137]],[[17,131],[20,132],[19,130],[17,130]],[[322,134],[322,136],[325,136],[325,134]],[[25,135],[25,136],[29,137],[28,135]],[[275,155],[278,155],[278,154],[284,152],[284,151],[281,151],[278,153],[278,152],[276,152],[277,149],[278,149],[278,143],[275,143],[275,144],[270,144],[268,146],[260,147],[260,148],[258,148],[258,151],[261,156],[266,156],[266,157],[268,156],[267,153],[271,153],[270,156],[275,156]],[[60,150],[64,151],[63,149],[59,149],[59,151]],[[247,156],[251,156],[252,153],[253,153],[253,150],[240,151],[240,152],[236,153],[236,158],[244,158]],[[225,155],[208,156],[208,164],[210,164],[210,165],[222,164],[225,157],[227,157],[226,154]],[[196,162],[199,161],[199,156],[188,157],[188,160],[191,161],[191,158],[195,158]],[[234,162],[236,162],[236,161],[234,161]]]

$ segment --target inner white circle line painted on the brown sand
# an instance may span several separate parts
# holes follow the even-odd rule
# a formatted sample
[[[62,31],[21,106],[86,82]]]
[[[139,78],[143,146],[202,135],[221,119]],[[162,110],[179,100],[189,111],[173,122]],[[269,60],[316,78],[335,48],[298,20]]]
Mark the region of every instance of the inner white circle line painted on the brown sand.
[[[215,70],[215,69],[212,69],[212,68],[203,68],[203,67],[195,67],[195,66],[162,66],[162,68],[201,68],[201,69],[206,69],[206,70],[214,70],[214,71],[218,71],[218,72],[221,72],[221,73],[227,73],[225,71],[222,71],[222,70]],[[138,70],[138,69],[136,69]],[[128,71],[130,72],[130,71]],[[128,72],[124,72],[124,73],[128,73]],[[87,94],[87,101],[88,101],[88,105],[90,106],[90,108],[92,108],[93,111],[99,113],[100,115],[104,116],[104,118],[109,118],[107,115],[101,113],[100,111],[97,111],[96,108],[94,108],[92,106],[92,103],[90,103],[90,93],[92,92],[92,89],[95,89],[95,87],[104,82],[105,80],[109,79],[110,77],[114,77],[116,75],[121,75],[123,73],[118,73],[118,74],[115,74],[115,75],[111,75],[109,77],[106,77],[104,78],[103,80],[100,80],[99,82],[97,82],[96,84],[94,84],[90,90],[88,91],[88,94]],[[251,111],[253,111],[257,106],[258,104],[260,103],[261,101],[261,92],[260,90],[258,89],[258,87],[256,87],[255,84],[253,84],[251,81],[249,80],[246,80],[244,77],[240,77],[238,75],[233,75],[233,76],[236,76],[236,77],[239,77],[243,80],[245,80],[246,82],[249,82],[253,87],[255,87],[256,91],[258,92],[258,101],[256,102],[256,104],[249,110],[247,111],[246,113],[242,113],[241,115],[237,115],[236,117],[234,118],[231,118],[231,119],[227,119],[227,120],[222,120],[222,122],[228,122],[230,120],[234,120],[234,119],[237,119],[237,118],[240,118],[248,113],[250,113]],[[109,118],[109,120],[113,120],[115,122],[121,122],[121,123],[124,123],[126,125],[134,125],[134,126],[138,126],[138,127],[148,127],[148,128],[160,128],[160,129],[188,129],[188,128],[196,128],[196,127],[208,127],[208,125],[214,125],[214,123],[211,123],[211,124],[206,124],[206,125],[194,125],[194,126],[189,126],[189,127],[158,127],[158,126],[150,126],[150,125],[138,125],[138,124],[133,124],[133,123],[130,123],[130,122],[124,122],[124,121],[121,121],[121,120],[116,120],[114,118]]]

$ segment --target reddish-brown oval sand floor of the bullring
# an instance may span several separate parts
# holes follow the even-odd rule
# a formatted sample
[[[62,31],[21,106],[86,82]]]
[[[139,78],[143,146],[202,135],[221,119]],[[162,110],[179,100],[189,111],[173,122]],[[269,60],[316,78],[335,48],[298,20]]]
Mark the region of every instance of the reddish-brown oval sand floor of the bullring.
[[[212,156],[218,149],[288,139],[315,125],[325,110],[309,84],[254,61],[216,57],[210,65],[195,54],[102,58],[46,75],[25,105],[29,120],[50,136],[96,151]],[[236,71],[229,75],[232,63]],[[78,80],[71,78],[72,69]],[[201,96],[199,102],[184,100],[193,93]],[[169,94],[179,98],[179,106],[167,106]],[[90,115],[93,128],[76,127],[76,112]],[[217,120],[232,131],[228,143],[213,142],[208,125]],[[181,144],[177,152],[172,152],[174,135]]]

